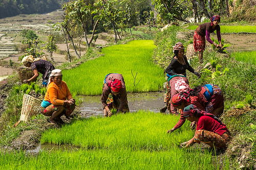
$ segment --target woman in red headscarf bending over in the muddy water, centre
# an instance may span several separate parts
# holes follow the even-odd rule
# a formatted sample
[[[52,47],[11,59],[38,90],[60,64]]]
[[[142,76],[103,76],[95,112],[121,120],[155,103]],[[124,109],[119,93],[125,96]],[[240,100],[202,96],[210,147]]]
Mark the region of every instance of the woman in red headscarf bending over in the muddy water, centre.
[[[123,76],[111,73],[106,75],[102,87],[101,103],[104,110],[104,117],[112,115],[111,109],[117,112],[129,112],[127,94]]]

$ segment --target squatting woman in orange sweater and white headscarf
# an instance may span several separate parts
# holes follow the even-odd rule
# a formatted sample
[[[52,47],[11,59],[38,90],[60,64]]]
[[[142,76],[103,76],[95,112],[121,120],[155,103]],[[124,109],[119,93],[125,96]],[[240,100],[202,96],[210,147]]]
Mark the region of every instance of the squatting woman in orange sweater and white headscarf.
[[[62,72],[60,69],[54,69],[49,77],[47,91],[44,101],[41,103],[42,114],[50,116],[48,122],[62,124],[62,115],[69,116],[75,109],[75,100],[66,82],[62,81]]]

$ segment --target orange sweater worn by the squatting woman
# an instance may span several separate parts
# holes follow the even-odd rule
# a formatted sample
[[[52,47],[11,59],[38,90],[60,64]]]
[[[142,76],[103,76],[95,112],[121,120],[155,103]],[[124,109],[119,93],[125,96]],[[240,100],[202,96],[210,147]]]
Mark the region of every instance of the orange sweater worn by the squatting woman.
[[[62,81],[60,85],[51,82],[47,88],[45,101],[50,101],[53,105],[63,105],[64,101],[72,99],[72,94],[66,82]]]

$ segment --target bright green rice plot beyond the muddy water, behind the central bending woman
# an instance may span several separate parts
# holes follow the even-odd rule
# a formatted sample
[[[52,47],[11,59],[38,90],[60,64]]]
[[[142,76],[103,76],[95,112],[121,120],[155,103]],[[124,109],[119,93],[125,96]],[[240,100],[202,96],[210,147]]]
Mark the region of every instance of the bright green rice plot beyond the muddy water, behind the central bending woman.
[[[152,40],[136,40],[103,48],[104,56],[63,70],[63,81],[72,94],[98,95],[105,76],[114,72],[123,75],[127,92],[158,91],[165,80],[163,69],[152,62],[155,47]]]

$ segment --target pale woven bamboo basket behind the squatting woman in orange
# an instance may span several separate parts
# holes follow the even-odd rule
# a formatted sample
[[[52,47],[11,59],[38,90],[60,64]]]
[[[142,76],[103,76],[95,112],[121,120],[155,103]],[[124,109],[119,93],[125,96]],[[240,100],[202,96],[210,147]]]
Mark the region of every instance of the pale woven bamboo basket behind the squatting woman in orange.
[[[40,113],[41,101],[35,99],[33,96],[24,94],[22,100],[22,113],[20,113],[19,120],[28,122],[31,116]]]

